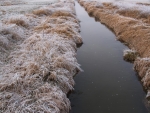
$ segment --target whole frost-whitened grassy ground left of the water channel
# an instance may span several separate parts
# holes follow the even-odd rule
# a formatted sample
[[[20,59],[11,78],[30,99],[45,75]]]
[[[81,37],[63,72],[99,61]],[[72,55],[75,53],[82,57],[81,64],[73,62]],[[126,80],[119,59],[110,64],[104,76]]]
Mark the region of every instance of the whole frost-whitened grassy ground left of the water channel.
[[[66,94],[81,70],[74,1],[1,0],[0,5],[0,112],[68,113]]]

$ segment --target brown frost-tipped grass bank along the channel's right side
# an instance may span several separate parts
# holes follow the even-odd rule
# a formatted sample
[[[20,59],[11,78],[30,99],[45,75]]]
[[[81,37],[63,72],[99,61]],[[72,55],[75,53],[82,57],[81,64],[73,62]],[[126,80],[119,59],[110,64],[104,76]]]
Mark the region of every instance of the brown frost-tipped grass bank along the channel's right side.
[[[124,59],[134,62],[150,101],[150,3],[127,0],[79,0],[79,3],[131,49],[125,51]]]

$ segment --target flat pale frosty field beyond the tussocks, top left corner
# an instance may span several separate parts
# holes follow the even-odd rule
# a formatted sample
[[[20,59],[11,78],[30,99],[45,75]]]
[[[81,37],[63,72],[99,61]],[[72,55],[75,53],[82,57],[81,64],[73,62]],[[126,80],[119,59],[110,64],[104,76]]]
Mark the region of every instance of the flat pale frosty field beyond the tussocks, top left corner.
[[[30,13],[39,7],[58,2],[58,0],[1,0],[0,18],[7,19],[10,15]]]

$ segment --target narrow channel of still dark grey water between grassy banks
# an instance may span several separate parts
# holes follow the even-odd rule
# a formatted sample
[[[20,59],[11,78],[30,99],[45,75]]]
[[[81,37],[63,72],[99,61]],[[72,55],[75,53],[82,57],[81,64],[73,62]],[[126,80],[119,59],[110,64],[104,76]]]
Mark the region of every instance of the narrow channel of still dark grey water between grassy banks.
[[[77,2],[75,5],[84,42],[77,59],[84,72],[74,78],[70,113],[148,113],[133,64],[122,57],[126,47]]]

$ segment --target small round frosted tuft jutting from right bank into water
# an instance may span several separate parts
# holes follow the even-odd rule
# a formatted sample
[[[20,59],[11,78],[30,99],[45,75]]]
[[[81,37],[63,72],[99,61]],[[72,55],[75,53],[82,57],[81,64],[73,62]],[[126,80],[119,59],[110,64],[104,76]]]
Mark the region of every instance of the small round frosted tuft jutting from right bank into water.
[[[130,49],[124,50],[123,53],[124,60],[128,62],[134,62],[137,57],[138,57],[138,53],[136,51]]]

